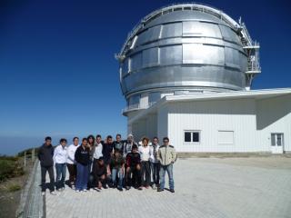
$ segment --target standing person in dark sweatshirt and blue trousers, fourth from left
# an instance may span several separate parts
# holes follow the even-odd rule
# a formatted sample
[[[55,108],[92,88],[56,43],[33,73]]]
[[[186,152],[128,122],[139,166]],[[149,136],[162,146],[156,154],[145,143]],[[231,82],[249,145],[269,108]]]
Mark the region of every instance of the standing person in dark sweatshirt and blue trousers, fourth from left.
[[[90,161],[90,149],[87,145],[87,139],[83,138],[82,144],[75,150],[76,162],[76,181],[75,192],[87,191],[88,171]]]

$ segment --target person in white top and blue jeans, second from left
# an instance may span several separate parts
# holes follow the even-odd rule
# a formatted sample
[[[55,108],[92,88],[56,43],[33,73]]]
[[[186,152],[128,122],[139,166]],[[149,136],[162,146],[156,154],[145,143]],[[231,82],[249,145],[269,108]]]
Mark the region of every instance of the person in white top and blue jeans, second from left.
[[[66,173],[66,139],[61,139],[60,144],[55,147],[54,162],[56,171],[55,187],[57,191],[65,189],[65,173]]]

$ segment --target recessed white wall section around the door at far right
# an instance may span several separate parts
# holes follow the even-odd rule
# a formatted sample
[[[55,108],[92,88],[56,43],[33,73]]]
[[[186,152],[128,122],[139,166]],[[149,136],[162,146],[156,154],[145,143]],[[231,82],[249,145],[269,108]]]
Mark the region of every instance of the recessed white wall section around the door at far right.
[[[271,145],[271,133],[284,134],[284,150],[291,151],[291,94],[256,102],[257,144],[266,150]]]

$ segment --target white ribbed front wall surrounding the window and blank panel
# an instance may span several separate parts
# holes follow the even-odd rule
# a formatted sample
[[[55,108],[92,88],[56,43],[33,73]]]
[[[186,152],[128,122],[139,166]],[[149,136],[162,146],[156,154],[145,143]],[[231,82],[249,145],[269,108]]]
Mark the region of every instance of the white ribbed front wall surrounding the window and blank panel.
[[[168,135],[179,152],[261,152],[256,144],[254,99],[176,102],[168,105]],[[184,143],[184,131],[200,131],[200,143]],[[218,131],[233,131],[233,144],[218,144]]]

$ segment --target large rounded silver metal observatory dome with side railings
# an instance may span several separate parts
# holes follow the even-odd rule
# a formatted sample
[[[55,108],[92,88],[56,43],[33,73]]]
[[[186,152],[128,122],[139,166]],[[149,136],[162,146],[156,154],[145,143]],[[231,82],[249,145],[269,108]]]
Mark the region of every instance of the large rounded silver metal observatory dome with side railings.
[[[247,89],[260,73],[246,25],[206,5],[171,5],[135,26],[116,58],[127,105],[163,94]],[[127,108],[128,109],[128,108]]]

